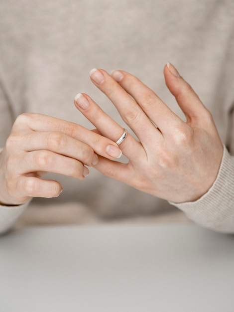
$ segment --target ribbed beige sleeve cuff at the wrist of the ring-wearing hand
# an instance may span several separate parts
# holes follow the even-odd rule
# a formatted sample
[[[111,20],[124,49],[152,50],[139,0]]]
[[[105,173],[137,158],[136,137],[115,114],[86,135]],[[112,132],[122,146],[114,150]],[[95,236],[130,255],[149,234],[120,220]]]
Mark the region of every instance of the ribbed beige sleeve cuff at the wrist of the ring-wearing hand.
[[[218,176],[200,199],[176,204],[194,222],[220,232],[234,233],[234,156],[226,147]]]

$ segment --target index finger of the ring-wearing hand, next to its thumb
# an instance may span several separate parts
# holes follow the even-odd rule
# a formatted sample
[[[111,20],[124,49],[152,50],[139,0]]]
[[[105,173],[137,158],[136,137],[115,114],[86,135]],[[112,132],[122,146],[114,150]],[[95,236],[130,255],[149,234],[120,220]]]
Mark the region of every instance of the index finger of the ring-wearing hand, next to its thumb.
[[[170,132],[168,125],[174,127],[181,122],[181,119],[138,78],[124,71],[114,71],[112,76],[135,99],[162,134]]]

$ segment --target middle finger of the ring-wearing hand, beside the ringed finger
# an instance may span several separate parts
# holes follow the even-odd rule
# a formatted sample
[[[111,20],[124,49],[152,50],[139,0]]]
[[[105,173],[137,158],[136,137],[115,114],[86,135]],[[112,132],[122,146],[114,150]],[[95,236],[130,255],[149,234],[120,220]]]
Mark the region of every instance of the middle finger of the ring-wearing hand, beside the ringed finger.
[[[91,80],[113,102],[123,121],[133,130],[142,144],[151,144],[152,136],[161,137],[160,132],[155,130],[155,126],[140,106],[106,71],[94,69],[90,74]],[[103,80],[96,79],[100,75],[103,76]],[[98,81],[102,82],[98,83]]]

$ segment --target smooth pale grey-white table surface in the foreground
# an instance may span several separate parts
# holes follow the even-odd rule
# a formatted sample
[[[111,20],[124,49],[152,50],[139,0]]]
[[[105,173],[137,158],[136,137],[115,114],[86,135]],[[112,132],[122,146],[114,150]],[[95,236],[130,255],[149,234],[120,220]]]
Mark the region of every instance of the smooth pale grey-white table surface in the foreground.
[[[0,237],[0,312],[234,312],[234,235],[193,225]]]

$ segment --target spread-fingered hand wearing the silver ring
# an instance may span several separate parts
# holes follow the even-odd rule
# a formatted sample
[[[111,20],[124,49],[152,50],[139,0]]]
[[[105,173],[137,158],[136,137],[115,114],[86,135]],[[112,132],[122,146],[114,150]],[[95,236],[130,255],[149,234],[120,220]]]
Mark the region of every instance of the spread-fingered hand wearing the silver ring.
[[[173,65],[165,66],[164,76],[187,122],[136,77],[124,71],[114,71],[112,76],[104,70],[91,71],[94,84],[114,103],[140,141],[128,134],[120,145],[129,159],[127,164],[102,157],[95,168],[175,203],[195,201],[214,183],[223,145],[210,112]],[[117,141],[123,129],[89,96],[83,97],[88,104],[84,109],[78,101],[77,108],[102,135]]]

